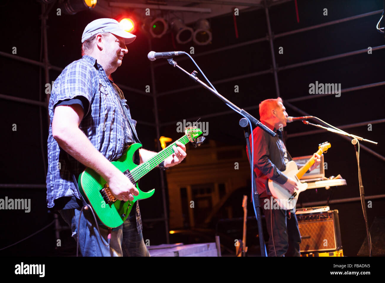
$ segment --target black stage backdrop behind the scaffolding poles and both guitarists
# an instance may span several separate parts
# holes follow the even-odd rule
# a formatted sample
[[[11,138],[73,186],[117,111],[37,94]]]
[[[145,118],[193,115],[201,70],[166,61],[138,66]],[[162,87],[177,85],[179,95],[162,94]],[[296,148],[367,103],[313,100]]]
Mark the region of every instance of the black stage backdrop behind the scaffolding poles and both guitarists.
[[[39,19],[41,5],[37,1],[2,1],[0,18],[3,23],[2,44],[0,51],[12,54],[17,49],[17,56],[37,60],[40,59],[40,28]],[[323,9],[328,9],[328,15],[323,15]],[[382,10],[381,0],[370,1],[298,1],[300,22],[296,21],[294,1],[275,5],[269,9],[271,28],[275,35],[326,23],[341,18],[351,17],[367,12]],[[343,54],[368,47],[381,46],[385,43],[383,34],[377,32],[375,25],[381,13],[358,18],[356,20],[328,25],[306,32],[278,37],[274,40],[274,50],[278,67],[318,59],[336,54]],[[76,15],[56,15],[56,9],[49,14],[48,47],[50,64],[64,68],[70,62],[80,58],[80,39],[85,25],[100,16],[92,12],[79,12]],[[176,45],[176,50],[188,52],[194,47],[195,55],[203,52],[226,47],[249,40],[266,37],[266,15],[263,9],[240,11],[237,16],[239,38],[234,34],[233,14],[228,13],[210,19],[213,32],[212,43],[207,46]],[[138,32],[137,39],[127,46],[129,53],[124,57],[122,66],[113,74],[118,84],[144,91],[151,84],[150,63],[147,53],[154,51],[175,50],[171,34],[167,33],[162,39],[153,39],[150,49],[147,37]],[[279,53],[283,47],[283,54]],[[309,95],[309,84],[335,83],[341,84],[342,89],[359,85],[384,81],[385,50],[373,50],[372,54],[361,54],[328,60],[317,64],[295,67],[278,72],[280,96],[285,100]],[[193,86],[194,83],[180,71],[172,68],[167,62],[156,61],[155,79],[157,93],[168,92],[181,87]],[[195,70],[189,60],[177,58],[179,64],[188,71]],[[268,41],[243,45],[238,48],[218,51],[209,55],[197,56],[196,61],[208,78],[215,82],[230,77],[268,70],[272,67],[271,52]],[[159,62],[159,63],[158,63]],[[38,66],[0,56],[1,88],[0,94],[20,97],[35,101],[44,101],[45,82],[44,70]],[[41,76],[39,76],[41,72]],[[50,70],[50,81],[60,74]],[[203,77],[199,76],[201,79]],[[39,86],[40,85],[40,86]],[[276,97],[275,79],[273,73],[234,79],[227,82],[214,83],[220,93],[241,108],[257,105],[260,101]],[[234,92],[238,85],[239,92]],[[40,88],[39,88],[40,87]],[[340,97],[329,95],[291,102],[295,107],[335,126],[361,123],[383,119],[384,117],[385,86],[366,88],[342,93]],[[132,117],[138,121],[154,123],[154,104],[151,96],[124,91]],[[161,123],[170,122],[161,127],[161,135],[173,139],[179,137],[176,123],[192,117],[200,117],[217,112],[228,111],[228,107],[203,88],[195,88],[183,92],[161,95],[157,99],[159,119]],[[45,184],[45,166],[47,166],[47,111],[44,107],[25,104],[0,98],[2,111],[1,125],[1,176],[3,184]],[[302,116],[286,105],[290,116]],[[249,112],[259,118],[258,108]],[[41,116],[41,118],[40,118]],[[238,114],[221,114],[202,119],[208,122],[209,135],[222,145],[244,145],[243,131],[238,126]],[[191,119],[192,120],[192,119]],[[40,122],[41,121],[41,122]],[[195,121],[195,120],[194,120]],[[17,131],[13,131],[16,124]],[[328,162],[326,176],[341,174],[347,180],[347,186],[333,189],[332,199],[353,198],[359,196],[358,176],[355,151],[350,144],[340,136],[321,132],[313,135],[290,137],[290,134],[311,131],[315,128],[302,123],[292,123],[286,127],[288,139],[286,144],[292,156],[303,156],[315,151],[320,142],[329,141],[332,148],[325,155]],[[385,124],[377,123],[352,127],[348,132],[363,136],[378,142],[377,146],[364,143],[363,145],[384,156]],[[146,149],[156,150],[155,127],[138,122],[137,131]],[[41,142],[42,141],[42,142]],[[42,148],[43,147],[43,148]],[[367,196],[383,194],[384,192],[384,161],[361,149],[361,169],[363,185]],[[328,173],[330,172],[330,173]],[[158,188],[156,198],[141,202],[142,218],[157,218],[162,215],[162,200],[160,194],[159,172],[153,171],[141,181],[144,190]],[[301,194],[302,202],[325,200],[330,190],[309,190]],[[53,216],[47,214],[46,191],[44,188],[1,188],[0,198],[31,199],[29,213],[17,210],[0,211],[0,248],[8,246],[27,237],[53,221]],[[367,208],[369,225],[374,217],[385,216],[384,199],[373,200],[372,208]],[[365,239],[365,224],[363,221],[360,202],[350,202],[330,205],[331,209],[340,212],[340,224],[344,254],[355,256]],[[251,209],[250,209],[251,211]],[[251,215],[251,214],[250,214]],[[166,242],[164,226],[154,224],[145,226],[144,233],[154,235],[152,244]],[[73,254],[73,243],[67,233],[62,236],[62,247],[58,251],[55,241],[54,226],[44,229],[31,238],[16,244],[0,255],[20,256],[55,256]],[[146,234],[145,234],[146,238]]]

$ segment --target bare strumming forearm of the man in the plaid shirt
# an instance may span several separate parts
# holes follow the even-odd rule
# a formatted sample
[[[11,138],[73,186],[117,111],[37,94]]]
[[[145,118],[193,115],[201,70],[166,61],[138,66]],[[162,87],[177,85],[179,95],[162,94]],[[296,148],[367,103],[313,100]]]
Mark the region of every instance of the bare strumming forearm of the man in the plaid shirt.
[[[64,151],[86,167],[94,169],[106,181],[120,172],[105,156],[100,153],[79,128],[61,129],[54,136]]]

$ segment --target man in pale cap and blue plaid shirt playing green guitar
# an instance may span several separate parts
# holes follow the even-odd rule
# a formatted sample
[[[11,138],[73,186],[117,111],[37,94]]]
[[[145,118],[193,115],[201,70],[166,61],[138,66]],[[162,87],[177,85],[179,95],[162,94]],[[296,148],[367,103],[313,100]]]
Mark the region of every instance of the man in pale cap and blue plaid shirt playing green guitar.
[[[114,19],[94,20],[83,32],[83,57],[65,67],[52,87],[47,206],[71,226],[83,256],[149,255],[137,202],[132,215],[109,235],[102,226],[98,231],[90,211],[83,211],[79,224],[82,201],[76,185],[79,174],[90,167],[107,181],[115,198],[133,200],[139,193],[110,163],[119,159],[130,144],[139,142],[127,100],[109,79],[128,52],[126,44],[135,38]],[[159,164],[160,168],[174,166],[186,157],[186,147],[179,142],[177,145],[176,153]],[[145,162],[155,154],[141,148],[135,159],[137,163]]]

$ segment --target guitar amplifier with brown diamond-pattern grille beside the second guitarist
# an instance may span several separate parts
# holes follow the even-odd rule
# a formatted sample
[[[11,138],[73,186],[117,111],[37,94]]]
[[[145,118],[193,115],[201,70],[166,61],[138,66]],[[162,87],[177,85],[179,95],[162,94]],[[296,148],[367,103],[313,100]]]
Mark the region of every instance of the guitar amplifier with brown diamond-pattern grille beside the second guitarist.
[[[303,208],[296,211],[302,242],[301,253],[342,249],[338,210],[329,207]]]

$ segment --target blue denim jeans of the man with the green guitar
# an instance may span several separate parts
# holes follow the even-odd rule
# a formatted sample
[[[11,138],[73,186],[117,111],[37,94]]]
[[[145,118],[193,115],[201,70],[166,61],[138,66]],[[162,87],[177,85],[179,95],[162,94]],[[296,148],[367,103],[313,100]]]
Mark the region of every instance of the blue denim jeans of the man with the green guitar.
[[[72,237],[77,241],[79,236],[79,209],[63,209],[60,215],[71,227]],[[110,245],[107,236],[108,229],[99,225],[100,239],[92,213],[83,210],[80,219],[79,248],[82,256],[150,256],[147,246],[144,244],[142,232],[137,233],[135,211],[126,221],[111,232]]]

